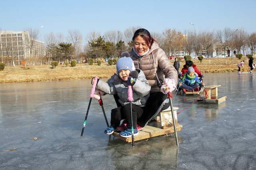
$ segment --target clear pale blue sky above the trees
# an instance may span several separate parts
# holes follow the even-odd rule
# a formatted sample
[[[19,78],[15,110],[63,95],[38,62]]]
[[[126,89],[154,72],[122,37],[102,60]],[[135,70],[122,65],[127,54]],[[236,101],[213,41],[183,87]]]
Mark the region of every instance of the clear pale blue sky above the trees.
[[[255,8],[256,0],[0,0],[0,29],[30,27],[42,37],[50,32],[67,36],[74,29],[84,37],[92,31],[104,35],[133,26],[158,33],[225,27],[252,33]]]

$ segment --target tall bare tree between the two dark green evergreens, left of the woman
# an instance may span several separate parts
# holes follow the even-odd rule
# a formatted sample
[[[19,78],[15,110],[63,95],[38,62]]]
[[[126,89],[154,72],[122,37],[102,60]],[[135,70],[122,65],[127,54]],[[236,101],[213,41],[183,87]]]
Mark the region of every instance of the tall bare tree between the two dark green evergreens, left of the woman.
[[[77,30],[69,30],[68,31],[68,41],[72,43],[74,46],[74,55],[72,55],[72,59],[76,59],[82,51],[82,40],[83,40],[83,35],[82,33]]]

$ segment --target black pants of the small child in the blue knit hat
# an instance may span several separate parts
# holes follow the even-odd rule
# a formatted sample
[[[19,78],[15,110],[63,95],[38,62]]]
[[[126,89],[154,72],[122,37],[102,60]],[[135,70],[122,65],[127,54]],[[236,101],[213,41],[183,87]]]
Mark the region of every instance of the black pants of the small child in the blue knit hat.
[[[120,121],[126,119],[128,129],[135,129],[137,126],[137,118],[140,118],[143,113],[143,107],[132,104],[132,118],[130,103],[125,106],[117,107],[111,110],[111,125],[116,129],[120,125]]]

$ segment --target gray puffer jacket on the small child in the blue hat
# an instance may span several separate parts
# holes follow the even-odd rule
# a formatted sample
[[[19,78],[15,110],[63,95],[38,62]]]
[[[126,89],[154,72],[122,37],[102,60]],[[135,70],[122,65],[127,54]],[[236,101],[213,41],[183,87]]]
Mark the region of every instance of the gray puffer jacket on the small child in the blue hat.
[[[139,74],[135,84],[132,86],[132,96],[134,100],[132,103],[137,106],[144,107],[148,100],[151,86],[149,85],[143,71],[138,68],[136,68],[136,71]],[[119,78],[116,73],[111,76],[107,82],[99,80],[97,88],[107,94],[117,94],[119,97],[118,102],[122,104],[122,106],[130,102],[128,100],[128,84]]]

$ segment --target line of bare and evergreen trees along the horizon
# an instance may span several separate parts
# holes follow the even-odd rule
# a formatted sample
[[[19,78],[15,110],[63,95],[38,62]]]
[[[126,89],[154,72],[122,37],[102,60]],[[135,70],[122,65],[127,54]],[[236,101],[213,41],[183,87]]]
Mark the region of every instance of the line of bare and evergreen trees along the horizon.
[[[105,58],[118,58],[123,51],[132,49],[132,37],[138,28],[140,27],[130,27],[124,31],[111,30],[104,34],[92,31],[85,37],[77,29],[69,30],[66,38],[62,33],[49,33],[44,37],[44,55],[33,55],[33,40],[38,39],[38,30],[29,29],[31,39],[27,41],[26,46],[30,50],[30,57],[24,60],[33,64],[50,64],[51,61],[64,63],[76,60],[78,63],[84,63],[88,59],[94,59],[96,62]],[[204,53],[208,57],[211,57],[213,51],[216,51],[217,55],[227,52],[230,55],[230,51],[254,55],[256,50],[256,32],[248,33],[243,28],[200,32],[166,29],[161,33],[152,32],[151,36],[168,56],[178,55],[182,51],[185,55]],[[83,40],[86,41],[84,47]],[[14,59],[12,61],[14,63]]]

